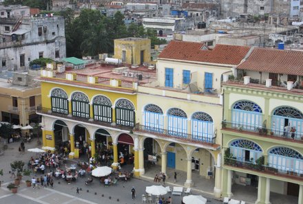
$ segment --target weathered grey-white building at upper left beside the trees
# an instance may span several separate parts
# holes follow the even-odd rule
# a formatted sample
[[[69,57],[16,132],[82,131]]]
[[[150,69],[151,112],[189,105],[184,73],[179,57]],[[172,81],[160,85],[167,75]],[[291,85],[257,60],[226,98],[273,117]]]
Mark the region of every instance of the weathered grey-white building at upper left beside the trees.
[[[0,69],[26,70],[36,58],[66,56],[63,17],[29,16],[28,7],[3,9],[1,14],[9,17],[0,18]]]

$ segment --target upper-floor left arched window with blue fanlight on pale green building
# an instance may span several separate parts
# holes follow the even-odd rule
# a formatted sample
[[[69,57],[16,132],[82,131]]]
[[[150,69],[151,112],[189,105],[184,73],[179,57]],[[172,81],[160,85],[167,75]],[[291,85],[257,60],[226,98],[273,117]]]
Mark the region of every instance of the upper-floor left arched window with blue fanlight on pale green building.
[[[247,131],[262,127],[262,109],[248,100],[236,102],[231,111],[232,126]]]

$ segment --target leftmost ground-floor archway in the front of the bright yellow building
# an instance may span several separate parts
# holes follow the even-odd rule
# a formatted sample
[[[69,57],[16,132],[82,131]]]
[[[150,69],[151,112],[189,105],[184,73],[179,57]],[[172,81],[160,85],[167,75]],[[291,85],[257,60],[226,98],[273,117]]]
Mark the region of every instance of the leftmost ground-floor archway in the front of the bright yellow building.
[[[68,144],[70,137],[70,132],[68,130],[67,124],[62,120],[56,120],[54,122],[54,144],[55,148],[59,150],[61,146]]]

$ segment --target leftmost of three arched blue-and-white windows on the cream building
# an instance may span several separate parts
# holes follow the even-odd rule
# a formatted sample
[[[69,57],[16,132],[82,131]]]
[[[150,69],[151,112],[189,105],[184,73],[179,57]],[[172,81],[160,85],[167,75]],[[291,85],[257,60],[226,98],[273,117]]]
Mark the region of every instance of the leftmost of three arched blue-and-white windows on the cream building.
[[[163,111],[155,104],[147,104],[144,108],[145,128],[156,133],[163,132]]]

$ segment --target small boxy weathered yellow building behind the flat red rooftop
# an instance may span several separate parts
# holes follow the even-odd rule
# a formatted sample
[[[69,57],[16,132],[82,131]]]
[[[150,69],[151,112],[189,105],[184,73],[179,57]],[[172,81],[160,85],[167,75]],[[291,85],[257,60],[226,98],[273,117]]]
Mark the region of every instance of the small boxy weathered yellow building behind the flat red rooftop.
[[[114,40],[114,58],[130,65],[151,61],[149,38],[121,38]]]

